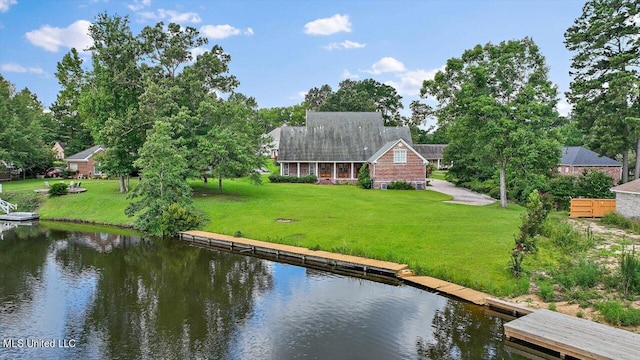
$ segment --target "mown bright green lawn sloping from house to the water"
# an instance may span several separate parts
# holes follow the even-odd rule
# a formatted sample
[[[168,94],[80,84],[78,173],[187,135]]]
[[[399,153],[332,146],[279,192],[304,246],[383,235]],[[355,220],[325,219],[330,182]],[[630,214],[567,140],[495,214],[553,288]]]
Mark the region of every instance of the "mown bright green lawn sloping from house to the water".
[[[33,191],[42,180],[4,183],[4,191]],[[135,184],[132,181],[132,184]],[[210,221],[204,230],[407,263],[421,274],[495,295],[526,290],[508,270],[522,209],[511,205],[448,204],[433,191],[363,190],[355,186],[193,182],[194,201]],[[83,181],[88,191],[45,198],[43,219],[130,225],[127,198],[115,180]],[[291,222],[279,222],[278,219]]]

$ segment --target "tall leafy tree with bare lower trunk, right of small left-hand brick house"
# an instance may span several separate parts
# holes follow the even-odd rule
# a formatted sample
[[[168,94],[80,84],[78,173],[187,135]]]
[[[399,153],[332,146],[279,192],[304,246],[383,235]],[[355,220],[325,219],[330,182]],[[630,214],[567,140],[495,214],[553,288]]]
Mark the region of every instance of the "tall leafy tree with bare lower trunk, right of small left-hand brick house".
[[[93,69],[80,97],[80,115],[96,141],[106,146],[102,168],[117,175],[120,192],[126,192],[125,178],[135,171],[133,162],[151,126],[139,123],[136,115],[144,89],[139,66],[142,47],[131,32],[128,17],[100,14],[89,27],[89,35]]]

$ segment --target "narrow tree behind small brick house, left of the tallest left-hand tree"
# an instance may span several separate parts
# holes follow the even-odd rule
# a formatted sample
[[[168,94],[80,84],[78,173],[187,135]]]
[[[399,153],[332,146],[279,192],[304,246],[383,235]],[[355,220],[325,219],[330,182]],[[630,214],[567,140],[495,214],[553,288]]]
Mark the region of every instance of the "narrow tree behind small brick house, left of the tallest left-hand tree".
[[[95,145],[91,131],[85,126],[84,119],[78,111],[86,77],[82,69],[82,59],[75,48],[58,62],[55,76],[61,89],[56,101],[51,105],[57,127],[57,138],[54,141],[64,142],[65,151],[75,154]]]

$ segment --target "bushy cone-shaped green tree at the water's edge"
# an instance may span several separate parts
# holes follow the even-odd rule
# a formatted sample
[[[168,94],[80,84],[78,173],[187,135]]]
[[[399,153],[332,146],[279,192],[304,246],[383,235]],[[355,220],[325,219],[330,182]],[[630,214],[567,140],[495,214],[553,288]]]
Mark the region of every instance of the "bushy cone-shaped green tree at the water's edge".
[[[172,138],[171,125],[156,122],[135,162],[142,169],[142,179],[129,194],[133,201],[125,210],[128,216],[139,213],[135,220],[138,229],[167,236],[201,223],[191,208],[186,154]],[[175,224],[177,218],[180,226]]]

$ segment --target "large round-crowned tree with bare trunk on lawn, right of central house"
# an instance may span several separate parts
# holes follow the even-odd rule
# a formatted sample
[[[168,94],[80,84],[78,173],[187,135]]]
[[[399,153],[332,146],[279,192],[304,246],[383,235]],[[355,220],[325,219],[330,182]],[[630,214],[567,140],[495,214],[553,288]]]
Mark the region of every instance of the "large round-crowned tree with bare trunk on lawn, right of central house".
[[[449,59],[421,89],[422,97],[438,102],[434,114],[447,127],[445,157],[454,162],[452,170],[497,170],[502,207],[510,166],[544,173],[558,161],[559,144],[548,131],[558,117],[556,93],[544,57],[529,38],[477,45]]]

